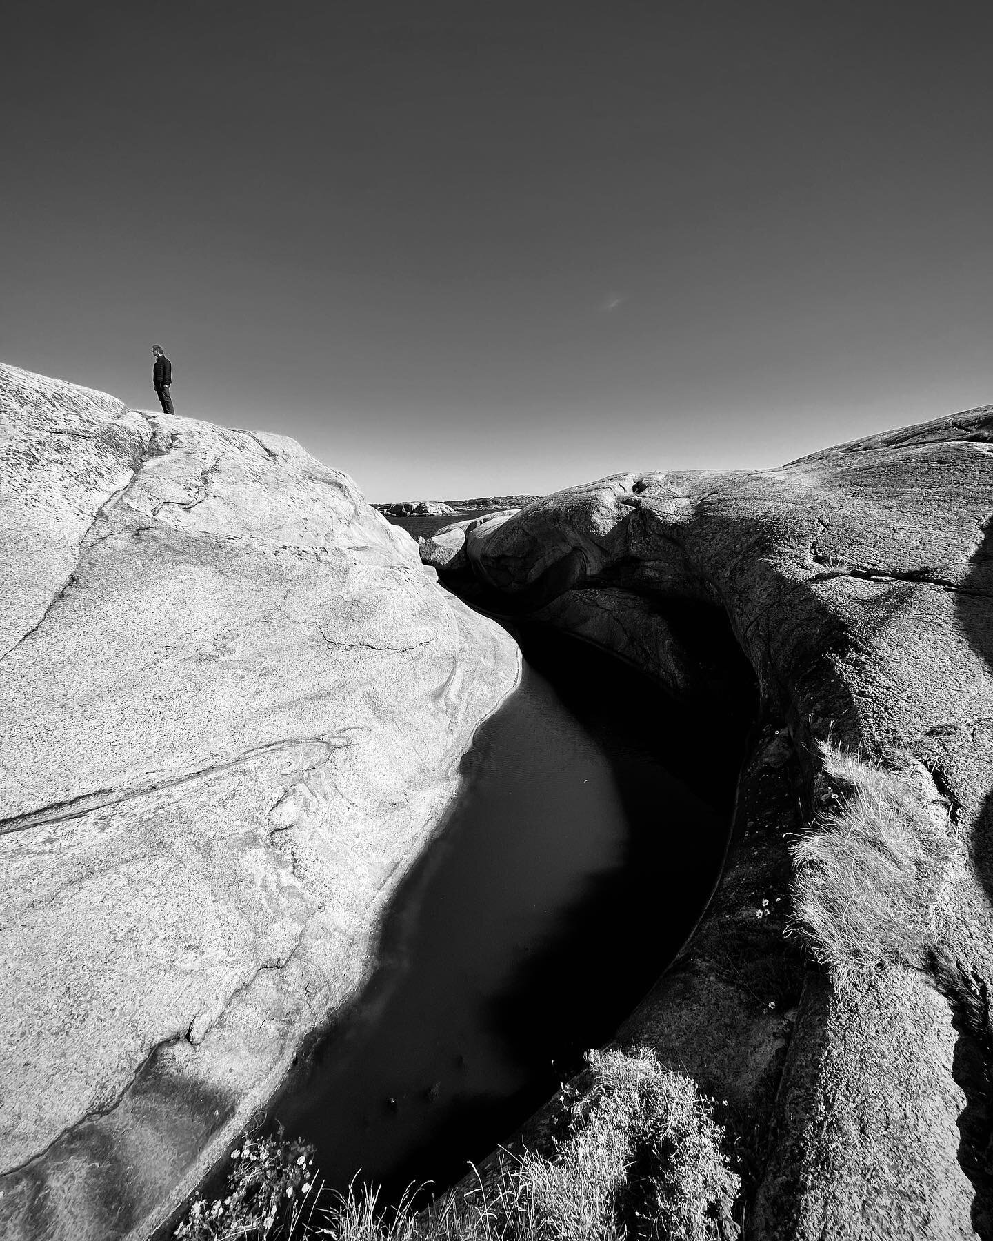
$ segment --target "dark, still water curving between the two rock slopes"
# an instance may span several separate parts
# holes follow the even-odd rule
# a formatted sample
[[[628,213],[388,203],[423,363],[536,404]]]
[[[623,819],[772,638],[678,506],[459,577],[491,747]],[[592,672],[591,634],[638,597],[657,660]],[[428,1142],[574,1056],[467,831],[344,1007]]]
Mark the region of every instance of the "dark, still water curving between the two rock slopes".
[[[611,1037],[700,915],[747,711],[688,717],[582,643],[523,633],[381,965],[278,1101],[329,1184],[443,1186]]]

